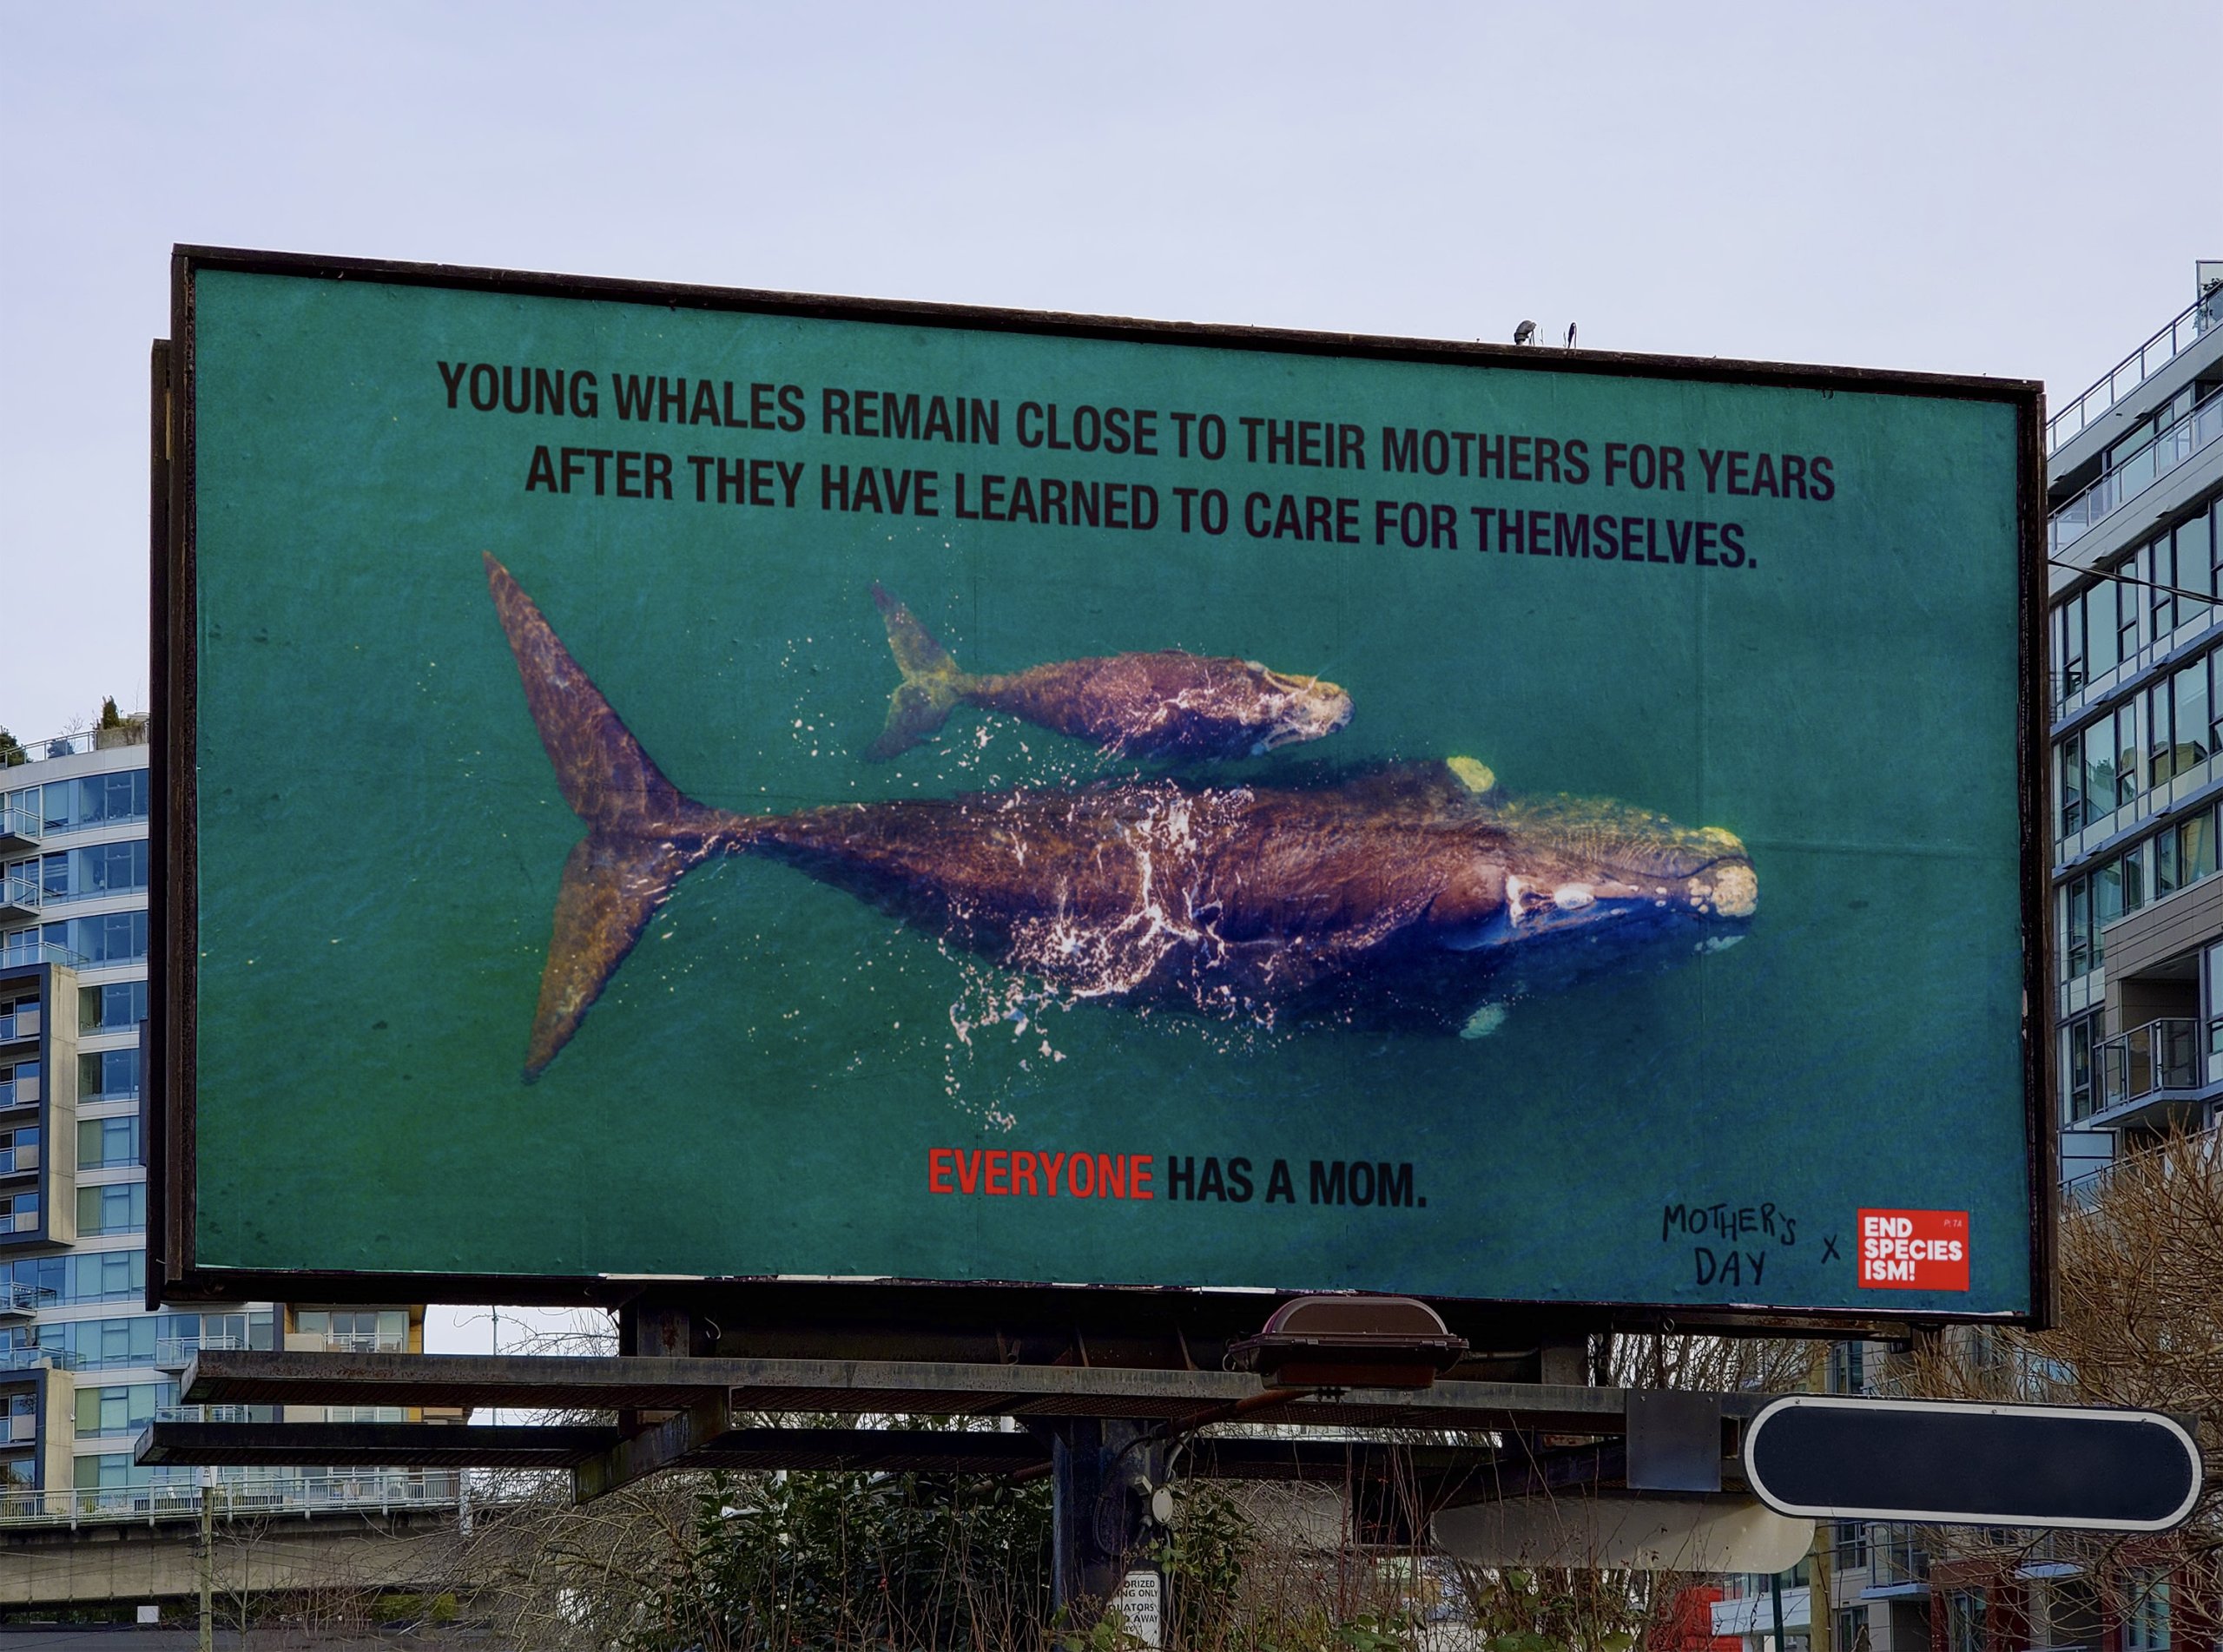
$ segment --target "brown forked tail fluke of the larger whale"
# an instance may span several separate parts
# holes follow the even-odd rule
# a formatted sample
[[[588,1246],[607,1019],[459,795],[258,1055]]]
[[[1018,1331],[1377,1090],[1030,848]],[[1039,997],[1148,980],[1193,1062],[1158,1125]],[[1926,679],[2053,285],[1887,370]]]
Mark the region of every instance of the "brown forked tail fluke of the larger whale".
[[[662,776],[491,551],[487,585],[556,785],[587,825],[556,892],[556,929],[525,1049],[531,1083],[569,1043],[680,874],[709,854],[707,838],[722,816]]]

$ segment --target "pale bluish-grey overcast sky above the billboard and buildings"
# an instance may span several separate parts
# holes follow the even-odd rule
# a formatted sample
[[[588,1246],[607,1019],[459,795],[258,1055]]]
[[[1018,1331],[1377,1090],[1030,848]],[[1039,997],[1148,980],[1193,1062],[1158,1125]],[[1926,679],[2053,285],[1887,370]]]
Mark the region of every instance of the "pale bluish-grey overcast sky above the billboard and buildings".
[[[0,725],[147,703],[173,242],[1349,334],[1532,318],[2065,405],[2223,258],[2216,62],[2216,0],[0,0]]]

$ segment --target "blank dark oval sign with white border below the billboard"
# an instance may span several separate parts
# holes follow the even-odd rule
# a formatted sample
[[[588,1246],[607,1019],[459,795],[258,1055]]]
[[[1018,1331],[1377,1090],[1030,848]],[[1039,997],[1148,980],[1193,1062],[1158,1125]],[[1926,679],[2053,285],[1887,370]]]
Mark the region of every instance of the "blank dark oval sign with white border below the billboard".
[[[2159,1412],[1790,1394],[1747,1425],[1745,1479],[1796,1516],[2165,1532],[2201,1454]]]

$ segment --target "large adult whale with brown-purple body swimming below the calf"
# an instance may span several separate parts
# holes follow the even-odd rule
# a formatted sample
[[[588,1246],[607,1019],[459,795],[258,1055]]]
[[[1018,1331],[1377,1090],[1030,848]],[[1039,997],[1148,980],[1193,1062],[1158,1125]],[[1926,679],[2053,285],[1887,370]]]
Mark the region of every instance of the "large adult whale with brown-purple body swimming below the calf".
[[[1443,1027],[1663,943],[1703,949],[1758,900],[1729,832],[1503,798],[1467,758],[1312,787],[1149,778],[734,814],[662,776],[491,554],[487,583],[587,827],[556,896],[527,1081],[680,876],[725,854],[785,860],[1083,998]]]

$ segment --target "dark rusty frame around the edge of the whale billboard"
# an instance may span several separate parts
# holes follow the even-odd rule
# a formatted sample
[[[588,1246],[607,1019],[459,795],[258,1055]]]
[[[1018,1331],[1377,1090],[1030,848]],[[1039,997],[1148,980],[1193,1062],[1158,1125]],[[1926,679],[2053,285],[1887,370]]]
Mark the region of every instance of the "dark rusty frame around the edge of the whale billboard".
[[[156,340],[151,358],[151,698],[156,738],[151,783],[160,803],[149,823],[151,854],[160,867],[160,898],[149,916],[149,1016],[158,1058],[142,1072],[147,1136],[160,1147],[149,1170],[147,1303],[162,1307],[196,1301],[507,1301],[545,1305],[622,1305],[642,1298],[720,1298],[749,1303],[782,1323],[856,1325],[880,1321],[905,1303],[938,1303],[925,1318],[951,1323],[960,1298],[980,1312],[956,1318],[996,1325],[1058,1325],[1085,1330],[1089,1321],[1127,1321],[1138,1303],[1185,1301],[1200,1318],[1223,1321],[1227,1310],[1256,1327],[1272,1303],[1292,1292],[1178,1285],[1034,1285],[974,1281],[860,1281],[836,1283],[794,1276],[554,1276],[554,1274],[431,1274],[202,1267],[196,1232],[196,1007],[198,1007],[198,545],[196,545],[196,314],[198,271],[293,276],[311,280],[373,280],[393,287],[438,287],[527,298],[602,300],[758,316],[798,316],[845,322],[898,322],[965,331],[1018,331],[1054,338],[1189,345],[1209,349],[1334,356],[1449,367],[1518,367],[1523,371],[1609,378],[1663,378],[1765,385],[1887,396],[1998,402],[2016,418],[2016,540],[2018,683],[2016,683],[2016,792],[2023,916],[2023,1138],[2027,1170],[2030,1312],[1974,1314],[1950,1310],[1867,1307],[1694,1307],[1687,1303],[1563,1303],[1518,1298],[1432,1298],[1454,1325],[1489,1323],[1554,1327],[1685,1327],[1750,1334],[1847,1336],[1863,1327],[1905,1334],[1912,1325],[2003,1323],[2045,1330],[2054,1321],[2054,1132],[2056,1005],[2047,800],[2045,800],[2045,387],[2036,380],[1907,374],[1867,367],[1812,367],[1734,358],[1638,356],[1592,349],[1447,342],[1396,336],[1325,334],[1276,327],[1163,322],[1063,311],[1020,311],[883,298],[829,298],[758,289],[554,276],[460,265],[389,262],[316,253],[247,251],[178,245],[171,251],[171,334]],[[1112,1298],[1125,1310],[1109,1312]],[[994,1307],[989,1307],[994,1303]],[[1187,1310],[1185,1310],[1187,1314]],[[1183,1316],[1185,1316],[1183,1314]],[[909,1318],[896,1312],[896,1318]]]

